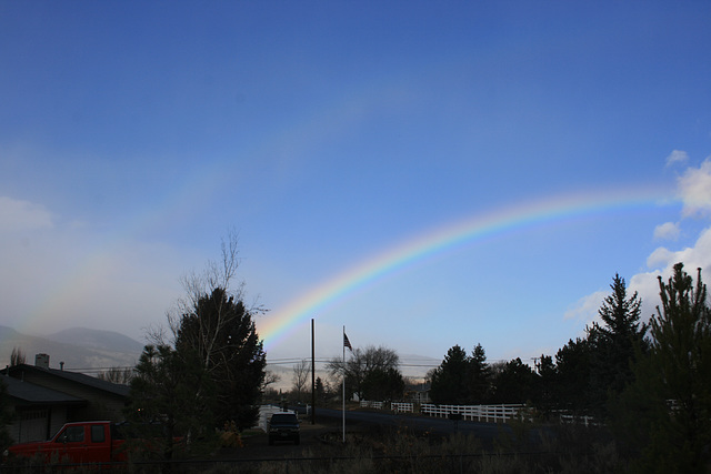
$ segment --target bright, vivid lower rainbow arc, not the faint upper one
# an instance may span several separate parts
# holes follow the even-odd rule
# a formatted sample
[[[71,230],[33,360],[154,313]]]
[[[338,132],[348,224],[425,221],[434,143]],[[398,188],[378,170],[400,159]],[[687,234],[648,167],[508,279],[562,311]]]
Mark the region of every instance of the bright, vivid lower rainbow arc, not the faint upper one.
[[[299,325],[318,312],[342,301],[383,276],[410,266],[414,262],[451,252],[495,235],[545,225],[582,215],[633,211],[640,208],[673,202],[660,188],[645,188],[557,195],[525,201],[508,208],[464,219],[405,241],[365,262],[317,285],[272,313],[259,324],[264,347],[278,345]]]

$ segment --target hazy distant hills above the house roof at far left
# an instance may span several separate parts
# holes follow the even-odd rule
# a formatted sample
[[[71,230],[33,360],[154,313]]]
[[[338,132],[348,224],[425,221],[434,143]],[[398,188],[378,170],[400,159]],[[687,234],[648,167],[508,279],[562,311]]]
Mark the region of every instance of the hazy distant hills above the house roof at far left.
[[[46,337],[22,334],[12,327],[0,326],[0,366],[10,364],[12,349],[19,349],[28,364],[34,355],[50,356],[50,367],[96,374],[109,367],[133,366],[143,345],[123,334],[74,327]]]

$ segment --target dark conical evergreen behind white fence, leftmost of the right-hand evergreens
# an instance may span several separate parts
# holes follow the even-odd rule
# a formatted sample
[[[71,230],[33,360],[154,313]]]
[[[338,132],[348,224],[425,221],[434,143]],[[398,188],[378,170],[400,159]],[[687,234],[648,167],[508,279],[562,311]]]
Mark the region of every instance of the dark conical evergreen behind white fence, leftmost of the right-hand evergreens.
[[[469,356],[459,345],[447,351],[444,360],[431,379],[430,399],[437,404],[465,405],[471,400],[468,375]]]

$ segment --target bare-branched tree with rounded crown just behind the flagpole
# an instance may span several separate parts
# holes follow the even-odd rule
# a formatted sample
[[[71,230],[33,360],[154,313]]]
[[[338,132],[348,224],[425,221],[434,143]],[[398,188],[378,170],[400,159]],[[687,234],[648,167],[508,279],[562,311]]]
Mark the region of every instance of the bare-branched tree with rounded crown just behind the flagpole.
[[[399,365],[400,357],[395,351],[369,345],[364,350],[356,347],[350,359],[346,361],[346,365],[341,359],[334,357],[327,364],[327,367],[332,376],[342,377],[346,375],[347,390],[356,393],[360,400],[365,400],[363,382],[368,375],[375,370],[399,370]]]

